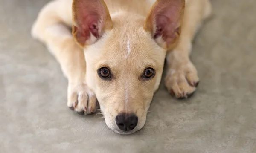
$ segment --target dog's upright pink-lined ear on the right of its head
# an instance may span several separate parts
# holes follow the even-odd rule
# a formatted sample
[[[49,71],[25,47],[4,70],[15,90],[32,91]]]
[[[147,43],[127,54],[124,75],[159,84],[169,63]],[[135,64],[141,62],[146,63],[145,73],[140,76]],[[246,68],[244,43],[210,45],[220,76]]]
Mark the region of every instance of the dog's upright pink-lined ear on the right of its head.
[[[164,49],[171,49],[177,42],[185,0],[157,0],[145,20],[144,29]]]

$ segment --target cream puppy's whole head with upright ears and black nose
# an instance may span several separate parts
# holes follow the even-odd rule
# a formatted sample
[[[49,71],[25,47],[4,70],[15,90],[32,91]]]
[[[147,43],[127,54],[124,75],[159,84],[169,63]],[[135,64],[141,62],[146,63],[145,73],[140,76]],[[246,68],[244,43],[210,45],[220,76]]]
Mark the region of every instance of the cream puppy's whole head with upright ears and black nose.
[[[84,48],[86,83],[117,133],[144,126],[166,51],[180,35],[184,5],[184,0],[157,0],[147,17],[110,16],[103,0],[73,1],[73,36]]]

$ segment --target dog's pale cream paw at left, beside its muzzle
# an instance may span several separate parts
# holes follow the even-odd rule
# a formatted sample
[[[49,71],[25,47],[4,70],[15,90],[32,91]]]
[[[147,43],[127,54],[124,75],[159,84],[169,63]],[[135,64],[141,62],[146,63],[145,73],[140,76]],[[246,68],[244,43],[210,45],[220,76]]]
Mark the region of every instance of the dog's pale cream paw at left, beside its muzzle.
[[[99,108],[96,95],[86,84],[69,84],[67,106],[80,115],[89,115]]]

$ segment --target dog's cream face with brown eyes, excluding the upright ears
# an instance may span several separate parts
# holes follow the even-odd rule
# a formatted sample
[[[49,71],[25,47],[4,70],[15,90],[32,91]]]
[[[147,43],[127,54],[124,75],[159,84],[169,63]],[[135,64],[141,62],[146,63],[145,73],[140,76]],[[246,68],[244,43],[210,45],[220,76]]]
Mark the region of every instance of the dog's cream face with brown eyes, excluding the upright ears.
[[[143,24],[125,24],[118,17],[112,20],[113,29],[85,51],[87,84],[96,94],[108,127],[126,132],[119,130],[116,116],[135,115],[138,122],[131,122],[137,126],[129,131],[133,132],[145,124],[160,84],[166,50],[151,39]]]

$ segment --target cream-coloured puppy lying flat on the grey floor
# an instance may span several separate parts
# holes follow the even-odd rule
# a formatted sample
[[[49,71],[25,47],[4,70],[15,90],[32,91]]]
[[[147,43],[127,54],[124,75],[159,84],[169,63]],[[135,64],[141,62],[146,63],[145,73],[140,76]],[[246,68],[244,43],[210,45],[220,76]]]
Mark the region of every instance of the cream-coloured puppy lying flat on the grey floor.
[[[209,0],[53,0],[32,36],[67,77],[67,106],[92,114],[98,101],[107,126],[129,134],[145,124],[165,59],[168,91],[176,98],[195,92],[199,78],[189,54],[210,12]]]

